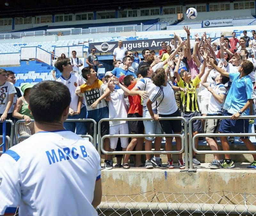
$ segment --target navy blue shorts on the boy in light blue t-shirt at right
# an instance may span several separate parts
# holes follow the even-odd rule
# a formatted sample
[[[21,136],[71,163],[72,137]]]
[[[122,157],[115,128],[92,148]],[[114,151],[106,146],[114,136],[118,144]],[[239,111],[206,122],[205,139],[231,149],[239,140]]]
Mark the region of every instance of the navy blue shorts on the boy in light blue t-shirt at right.
[[[231,116],[233,114],[226,112],[224,116]],[[248,133],[249,131],[249,119],[222,119],[220,123],[220,133]],[[248,138],[248,137],[241,137]]]

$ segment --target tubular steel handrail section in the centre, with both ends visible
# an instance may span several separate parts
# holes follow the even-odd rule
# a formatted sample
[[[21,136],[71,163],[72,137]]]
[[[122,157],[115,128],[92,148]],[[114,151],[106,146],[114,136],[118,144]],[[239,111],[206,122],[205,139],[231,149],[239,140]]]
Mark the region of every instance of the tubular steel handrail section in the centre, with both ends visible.
[[[99,155],[101,155],[101,147],[104,146],[103,145],[104,142],[102,142],[102,145],[101,145],[101,141],[103,141],[102,138],[107,138],[107,137],[110,136],[110,135],[105,135],[101,138],[101,123],[102,122],[106,122],[106,121],[143,121],[143,120],[151,120],[152,121],[153,119],[152,118],[103,118],[103,119],[100,119],[100,121],[98,123],[98,146],[100,146],[100,147],[98,147]],[[177,116],[177,117],[159,117],[159,120],[181,120],[181,121],[184,122],[184,130],[187,131],[187,122],[186,122],[186,119],[184,117],[181,117],[181,116]],[[165,137],[165,135],[169,136],[170,134],[150,134],[150,135],[149,134],[129,134],[129,136],[128,136],[128,134],[123,134],[123,135],[126,136],[126,137],[153,137],[153,136],[154,137]],[[179,136],[179,135],[178,134],[172,134],[171,136],[174,137],[174,136]],[[111,135],[111,137],[122,137],[122,134]],[[182,141],[184,141],[184,142],[182,142]],[[181,148],[185,149],[185,161],[188,161],[188,145],[187,145],[187,133],[186,132],[184,133],[184,138],[181,138]],[[104,152],[106,152],[106,151],[104,150]],[[135,153],[135,152],[136,151],[132,151],[132,154]],[[156,151],[149,151],[149,153],[153,153],[153,154],[157,154],[157,153],[169,154],[169,153],[166,153],[166,152],[167,151],[159,151],[159,152],[158,151],[157,152]],[[172,151],[172,152],[175,152],[173,154],[181,153],[180,151]],[[126,152],[122,152],[120,154],[123,154],[123,153],[126,153]],[[144,153],[148,154],[146,151],[143,151],[143,153],[136,153],[136,154],[144,154]],[[110,153],[108,152],[108,154],[110,154]],[[185,164],[185,168],[188,169],[188,163]]]

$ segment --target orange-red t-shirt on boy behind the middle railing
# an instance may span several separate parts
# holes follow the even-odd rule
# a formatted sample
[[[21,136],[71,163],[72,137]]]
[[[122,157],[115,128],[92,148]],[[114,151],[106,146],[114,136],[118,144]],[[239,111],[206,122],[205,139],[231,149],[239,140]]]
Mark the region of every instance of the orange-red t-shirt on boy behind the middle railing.
[[[132,83],[130,86],[128,86],[128,89],[132,90],[136,83],[137,82]],[[128,96],[128,99],[130,103],[128,114],[138,113],[139,115],[143,116],[141,97],[139,95],[134,95]]]

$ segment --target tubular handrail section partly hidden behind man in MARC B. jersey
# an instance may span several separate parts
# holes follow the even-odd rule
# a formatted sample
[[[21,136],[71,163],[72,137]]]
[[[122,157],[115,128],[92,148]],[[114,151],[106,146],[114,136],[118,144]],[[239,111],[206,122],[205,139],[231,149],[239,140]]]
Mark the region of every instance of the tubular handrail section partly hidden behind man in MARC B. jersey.
[[[24,123],[25,120],[21,119],[21,120],[18,120],[16,123],[15,123],[15,126],[14,126],[14,133],[15,133],[15,137],[14,137],[14,145],[16,145],[18,143],[18,125],[19,123]],[[31,122],[34,122],[33,119],[31,119]],[[94,133],[93,133],[93,145],[94,147],[97,149],[97,134],[96,134],[96,129],[97,129],[97,123],[94,119],[91,119],[91,118],[84,118],[84,119],[67,119],[65,122],[93,122],[93,129],[94,129]],[[92,136],[91,135],[79,135],[81,137],[88,137],[88,138],[91,138]],[[21,136],[20,136],[21,137]],[[22,138],[28,138],[29,136],[22,136]],[[19,139],[20,140],[20,139]]]

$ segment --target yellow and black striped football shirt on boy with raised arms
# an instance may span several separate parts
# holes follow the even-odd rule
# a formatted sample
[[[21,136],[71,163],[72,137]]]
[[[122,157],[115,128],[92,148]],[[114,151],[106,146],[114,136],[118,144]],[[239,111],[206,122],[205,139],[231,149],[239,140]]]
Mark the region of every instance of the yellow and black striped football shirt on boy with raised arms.
[[[198,76],[190,80],[189,83],[186,83],[180,78],[178,86],[187,89],[187,94],[185,94],[185,92],[181,92],[181,103],[183,112],[199,112],[199,106],[197,103],[196,95],[196,86],[200,83],[200,81],[201,80]]]

